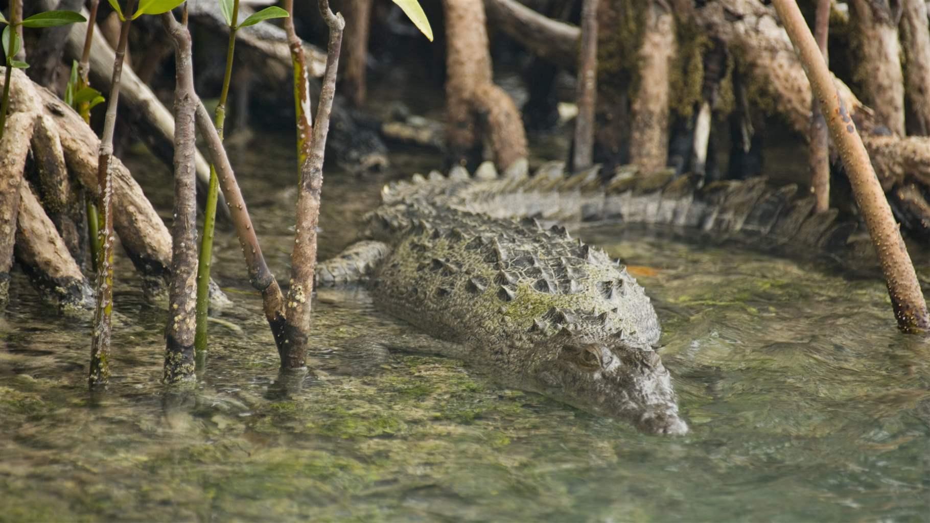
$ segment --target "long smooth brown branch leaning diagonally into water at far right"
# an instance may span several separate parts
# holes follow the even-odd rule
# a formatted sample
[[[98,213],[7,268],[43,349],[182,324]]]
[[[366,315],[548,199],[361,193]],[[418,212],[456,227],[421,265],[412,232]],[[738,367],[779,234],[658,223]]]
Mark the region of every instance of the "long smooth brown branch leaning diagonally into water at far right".
[[[901,239],[891,207],[875,177],[869,153],[862,144],[849,111],[840,98],[833,77],[824,62],[814,35],[807,29],[801,10],[794,0],[777,0],[775,9],[791,43],[804,63],[804,71],[817,94],[820,111],[827,119],[830,136],[837,144],[846,173],[865,218],[872,243],[882,264],[888,294],[895,309],[897,325],[903,331],[930,329],[930,316],[923,300],[920,282],[910,263],[910,255]]]

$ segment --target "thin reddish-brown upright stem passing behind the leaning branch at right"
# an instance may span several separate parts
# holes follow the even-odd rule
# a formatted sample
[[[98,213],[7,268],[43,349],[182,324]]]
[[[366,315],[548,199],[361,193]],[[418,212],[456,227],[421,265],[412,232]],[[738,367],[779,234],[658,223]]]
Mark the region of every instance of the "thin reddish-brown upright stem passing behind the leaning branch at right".
[[[817,40],[817,48],[820,49],[824,63],[829,64],[827,35],[830,31],[830,0],[817,0],[817,13],[814,18],[814,38]],[[814,211],[823,213],[830,209],[830,142],[827,135],[827,122],[817,107],[817,99],[812,99],[811,103],[811,141],[808,149],[811,191],[817,200]]]

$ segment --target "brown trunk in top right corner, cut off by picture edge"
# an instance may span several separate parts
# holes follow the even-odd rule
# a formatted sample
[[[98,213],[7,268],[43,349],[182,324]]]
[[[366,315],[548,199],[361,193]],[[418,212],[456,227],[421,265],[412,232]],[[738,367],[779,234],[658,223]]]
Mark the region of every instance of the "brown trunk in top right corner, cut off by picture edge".
[[[901,2],[900,31],[904,45],[905,97],[910,135],[930,135],[930,30],[923,2]]]

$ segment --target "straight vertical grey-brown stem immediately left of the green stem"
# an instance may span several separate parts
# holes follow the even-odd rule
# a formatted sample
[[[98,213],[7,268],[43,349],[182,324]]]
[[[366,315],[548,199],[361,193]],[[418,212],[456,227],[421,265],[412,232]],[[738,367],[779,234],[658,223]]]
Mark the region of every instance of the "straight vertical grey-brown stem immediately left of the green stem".
[[[185,17],[186,18],[186,17]],[[194,113],[191,33],[171,11],[162,15],[175,45],[175,195],[171,226],[171,286],[166,325],[166,383],[193,379],[193,337],[197,295],[197,196],[194,172]]]

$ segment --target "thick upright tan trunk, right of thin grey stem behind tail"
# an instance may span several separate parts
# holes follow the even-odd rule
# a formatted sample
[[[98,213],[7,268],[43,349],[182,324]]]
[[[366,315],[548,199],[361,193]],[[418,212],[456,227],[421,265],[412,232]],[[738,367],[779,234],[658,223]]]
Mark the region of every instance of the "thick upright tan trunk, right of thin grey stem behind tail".
[[[643,171],[665,167],[669,157],[669,72],[675,56],[675,20],[658,1],[645,8],[640,79],[631,104],[630,161]]]

